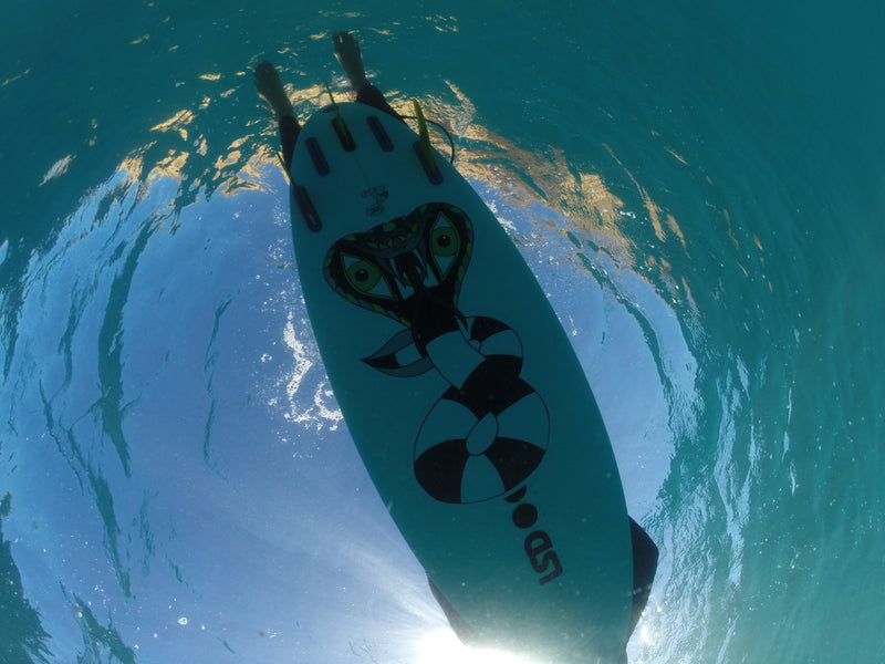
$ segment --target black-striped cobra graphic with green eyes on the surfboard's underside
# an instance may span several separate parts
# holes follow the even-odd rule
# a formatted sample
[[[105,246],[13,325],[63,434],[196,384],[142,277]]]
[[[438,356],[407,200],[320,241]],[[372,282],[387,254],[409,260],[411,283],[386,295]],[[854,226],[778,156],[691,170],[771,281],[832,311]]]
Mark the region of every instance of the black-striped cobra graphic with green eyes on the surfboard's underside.
[[[341,238],[323,263],[341,297],[404,326],[364,362],[402,378],[436,370],[449,383],[420,426],[414,469],[430,496],[455,504],[488,500],[525,480],[550,428],[546,405],[520,377],[519,335],[458,309],[472,250],[467,215],[430,203]]]

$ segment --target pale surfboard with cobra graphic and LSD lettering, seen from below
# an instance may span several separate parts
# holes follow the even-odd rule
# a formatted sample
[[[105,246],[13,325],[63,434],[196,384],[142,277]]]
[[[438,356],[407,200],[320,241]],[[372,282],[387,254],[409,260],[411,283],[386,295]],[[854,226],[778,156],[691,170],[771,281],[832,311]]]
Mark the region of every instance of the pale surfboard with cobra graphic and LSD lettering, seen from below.
[[[633,589],[621,478],[507,232],[429,142],[369,106],[311,116],[290,176],[323,364],[428,577],[483,645],[617,662]]]

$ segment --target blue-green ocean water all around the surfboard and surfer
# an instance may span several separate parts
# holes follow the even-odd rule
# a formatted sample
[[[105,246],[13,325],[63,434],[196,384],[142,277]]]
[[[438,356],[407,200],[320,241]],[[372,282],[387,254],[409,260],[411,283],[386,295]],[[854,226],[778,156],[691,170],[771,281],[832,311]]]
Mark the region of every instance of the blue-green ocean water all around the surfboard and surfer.
[[[882,661],[882,3],[2,13],[0,663],[472,656],[347,436],[251,84],[346,96],[340,29],[571,334],[660,547],[631,661]]]

